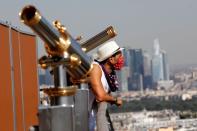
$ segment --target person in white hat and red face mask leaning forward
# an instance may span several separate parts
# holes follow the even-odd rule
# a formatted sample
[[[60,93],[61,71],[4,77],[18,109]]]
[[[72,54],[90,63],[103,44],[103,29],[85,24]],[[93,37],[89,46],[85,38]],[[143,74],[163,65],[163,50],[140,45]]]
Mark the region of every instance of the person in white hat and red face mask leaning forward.
[[[119,89],[119,84],[115,70],[120,70],[124,64],[122,55],[123,48],[120,48],[115,41],[109,41],[102,45],[97,51],[97,58],[93,62],[93,69],[89,74],[90,97],[92,109],[96,114],[97,131],[110,131],[113,126],[107,111],[107,104],[122,105],[122,99],[111,95]],[[111,122],[110,122],[111,123]],[[92,129],[90,129],[92,131]]]

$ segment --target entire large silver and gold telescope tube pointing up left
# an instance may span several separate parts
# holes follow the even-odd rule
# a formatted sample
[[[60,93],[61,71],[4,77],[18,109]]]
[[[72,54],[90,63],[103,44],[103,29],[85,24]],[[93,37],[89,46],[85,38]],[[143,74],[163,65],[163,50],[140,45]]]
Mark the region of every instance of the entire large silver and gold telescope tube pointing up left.
[[[23,8],[20,18],[23,23],[38,34],[50,50],[57,52],[56,54],[63,54],[63,52],[69,54],[71,62],[65,66],[71,77],[79,79],[89,73],[92,69],[92,60],[67,31],[56,30],[32,5]]]

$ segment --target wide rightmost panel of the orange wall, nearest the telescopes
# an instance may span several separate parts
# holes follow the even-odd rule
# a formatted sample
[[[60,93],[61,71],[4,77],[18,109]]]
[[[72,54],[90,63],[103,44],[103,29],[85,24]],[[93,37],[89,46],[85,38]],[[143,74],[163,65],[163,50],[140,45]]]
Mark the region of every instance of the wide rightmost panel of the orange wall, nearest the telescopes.
[[[38,125],[38,78],[36,37],[20,33],[20,56],[22,65],[22,89],[24,101],[25,129]]]

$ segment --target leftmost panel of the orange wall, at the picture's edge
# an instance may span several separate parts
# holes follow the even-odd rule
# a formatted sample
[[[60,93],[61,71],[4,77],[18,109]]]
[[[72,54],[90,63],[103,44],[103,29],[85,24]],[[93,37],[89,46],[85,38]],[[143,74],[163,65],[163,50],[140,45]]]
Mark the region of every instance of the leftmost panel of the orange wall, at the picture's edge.
[[[14,131],[9,27],[0,24],[0,130]]]

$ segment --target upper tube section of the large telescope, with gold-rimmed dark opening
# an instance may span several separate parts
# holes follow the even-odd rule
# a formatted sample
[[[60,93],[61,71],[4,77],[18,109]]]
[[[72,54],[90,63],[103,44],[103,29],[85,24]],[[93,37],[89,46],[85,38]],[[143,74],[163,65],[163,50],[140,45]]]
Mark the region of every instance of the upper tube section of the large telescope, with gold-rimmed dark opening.
[[[34,6],[26,6],[20,13],[20,19],[29,26],[40,38],[46,42],[50,49],[55,50],[59,42],[59,32],[41,16]]]

